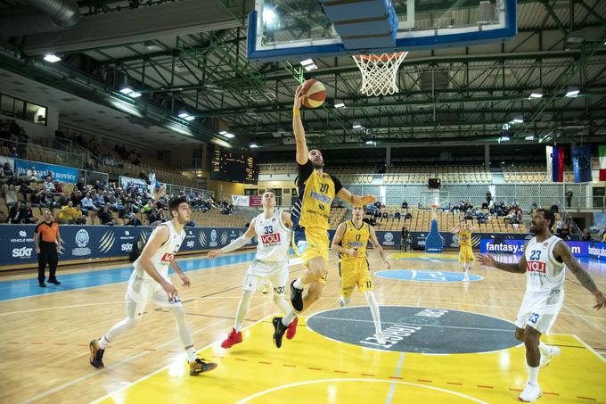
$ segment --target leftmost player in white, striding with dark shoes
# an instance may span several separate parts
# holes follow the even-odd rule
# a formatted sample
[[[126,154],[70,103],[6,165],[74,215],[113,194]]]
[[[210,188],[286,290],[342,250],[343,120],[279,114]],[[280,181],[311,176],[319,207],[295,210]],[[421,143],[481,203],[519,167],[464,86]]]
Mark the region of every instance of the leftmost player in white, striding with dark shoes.
[[[168,276],[168,267],[170,267],[181,278],[185,287],[190,286],[190,280],[179,268],[175,256],[184,241],[183,228],[189,221],[192,210],[187,199],[181,196],[168,202],[168,210],[173,219],[153,230],[141,256],[135,260],[135,270],[128,280],[125,296],[127,317],[112,326],[100,340],[90,342],[89,361],[93,367],[98,369],[104,367],[102,359],[107,345],[127,330],[137,326],[150,299],[160,307],[168,309],[175,317],[179,338],[187,353],[190,375],[199,375],[217,367],[217,364],[204,362],[196,356],[192,331],[187,324],[185,310]]]

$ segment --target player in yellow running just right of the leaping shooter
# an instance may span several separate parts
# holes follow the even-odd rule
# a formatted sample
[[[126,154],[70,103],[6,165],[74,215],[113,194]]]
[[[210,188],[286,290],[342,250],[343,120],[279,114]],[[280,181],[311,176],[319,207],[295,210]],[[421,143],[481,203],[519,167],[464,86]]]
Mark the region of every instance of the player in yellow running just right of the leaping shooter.
[[[351,293],[357,286],[357,291],[364,293],[364,297],[371,308],[374,322],[374,338],[377,343],[385,344],[385,335],[381,330],[381,314],[379,303],[374,297],[374,285],[371,279],[371,271],[366,260],[366,245],[368,241],[373,248],[381,253],[381,259],[386,268],[390,268],[389,262],[377,240],[374,227],[364,223],[364,207],[354,206],[354,217],[343,222],[337,227],[337,232],[332,238],[332,251],[339,253],[339,276],[340,276],[340,306],[347,305],[351,299]]]

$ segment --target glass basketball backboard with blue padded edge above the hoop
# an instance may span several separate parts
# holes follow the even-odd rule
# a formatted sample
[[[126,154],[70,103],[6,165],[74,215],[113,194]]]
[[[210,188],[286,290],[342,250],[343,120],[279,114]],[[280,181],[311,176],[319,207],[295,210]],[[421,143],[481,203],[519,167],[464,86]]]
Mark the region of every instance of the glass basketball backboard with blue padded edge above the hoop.
[[[344,44],[338,33],[344,32],[343,21],[332,20],[347,15],[346,23],[358,23],[352,25],[357,29],[353,35],[364,37],[365,27],[381,20],[373,15],[377,2],[397,15],[393,45],[377,47],[372,39],[354,48]],[[329,12],[329,6],[337,8],[334,4],[358,8],[349,9],[349,14],[340,9]],[[361,9],[364,4],[367,8]],[[387,14],[383,17],[389,20]],[[498,42],[516,34],[516,0],[256,0],[255,11],[249,14],[248,57],[263,62],[414,51]]]

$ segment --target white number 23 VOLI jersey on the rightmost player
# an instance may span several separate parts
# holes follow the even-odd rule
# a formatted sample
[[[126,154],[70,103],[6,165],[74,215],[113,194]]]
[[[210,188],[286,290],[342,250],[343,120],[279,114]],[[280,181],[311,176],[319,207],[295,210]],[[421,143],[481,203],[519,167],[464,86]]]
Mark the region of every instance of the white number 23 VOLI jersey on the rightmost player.
[[[527,292],[563,290],[566,265],[553,256],[553,247],[560,241],[559,237],[552,235],[543,243],[538,243],[536,237],[528,242],[524,251]]]

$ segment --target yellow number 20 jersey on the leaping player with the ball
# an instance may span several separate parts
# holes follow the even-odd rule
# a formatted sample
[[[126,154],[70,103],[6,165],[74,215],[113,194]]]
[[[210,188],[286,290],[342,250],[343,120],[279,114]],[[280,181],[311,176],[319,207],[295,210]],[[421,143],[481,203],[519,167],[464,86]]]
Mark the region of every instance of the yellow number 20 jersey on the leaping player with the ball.
[[[339,179],[326,173],[318,174],[314,164],[308,160],[304,165],[299,164],[297,186],[299,198],[291,213],[294,229],[315,227],[328,230],[332,201],[343,187]]]

